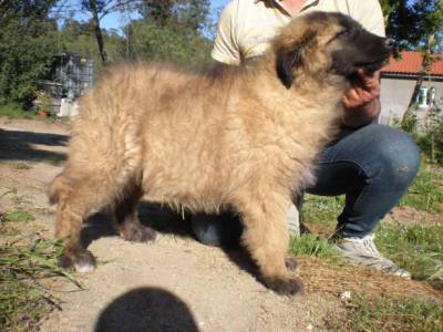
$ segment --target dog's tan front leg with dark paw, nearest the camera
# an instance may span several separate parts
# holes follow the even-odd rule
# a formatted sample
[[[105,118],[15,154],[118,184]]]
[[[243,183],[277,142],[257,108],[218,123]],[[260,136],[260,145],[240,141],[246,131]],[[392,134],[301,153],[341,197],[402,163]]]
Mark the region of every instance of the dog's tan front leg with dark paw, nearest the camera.
[[[287,206],[288,199],[280,194],[257,189],[244,193],[235,203],[245,225],[243,243],[257,262],[262,282],[277,293],[296,294],[301,282],[288,276],[285,264],[289,246]]]

